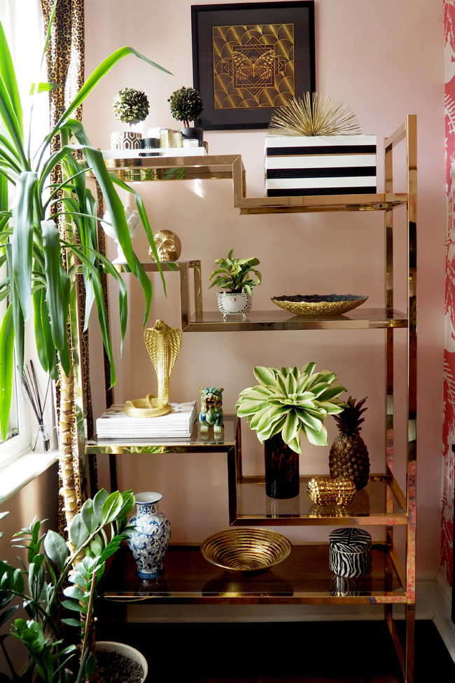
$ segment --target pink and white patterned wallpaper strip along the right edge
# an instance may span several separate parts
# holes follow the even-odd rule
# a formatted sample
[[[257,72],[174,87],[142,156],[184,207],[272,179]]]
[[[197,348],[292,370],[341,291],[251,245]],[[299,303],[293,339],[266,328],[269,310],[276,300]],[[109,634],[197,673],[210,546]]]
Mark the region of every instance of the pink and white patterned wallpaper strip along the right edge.
[[[455,0],[444,0],[446,137],[446,284],[444,336],[444,484],[442,488],[441,561],[452,585],[454,543],[455,441]]]

